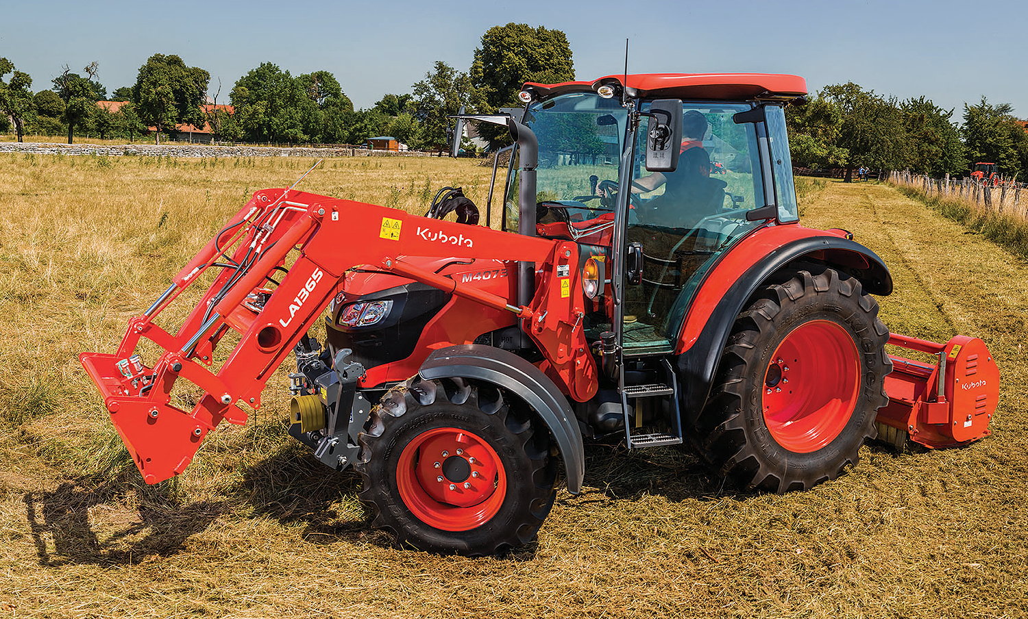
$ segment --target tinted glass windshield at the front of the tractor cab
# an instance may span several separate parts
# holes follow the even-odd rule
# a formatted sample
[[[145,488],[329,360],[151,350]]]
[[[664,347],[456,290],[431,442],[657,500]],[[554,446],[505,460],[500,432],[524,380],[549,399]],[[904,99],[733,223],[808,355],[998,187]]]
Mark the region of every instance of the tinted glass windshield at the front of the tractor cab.
[[[537,201],[555,202],[571,221],[613,210],[603,187],[617,187],[628,112],[616,99],[576,92],[528,106],[524,123],[539,139]],[[615,192],[610,192],[613,196]],[[517,230],[517,165],[509,178],[504,229]]]

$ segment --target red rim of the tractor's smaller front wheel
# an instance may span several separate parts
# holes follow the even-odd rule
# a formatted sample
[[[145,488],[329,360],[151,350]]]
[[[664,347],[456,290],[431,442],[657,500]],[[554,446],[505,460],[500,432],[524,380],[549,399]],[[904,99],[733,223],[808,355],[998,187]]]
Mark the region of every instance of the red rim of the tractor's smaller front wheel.
[[[443,531],[485,524],[507,496],[507,473],[495,450],[460,428],[415,436],[400,454],[396,481],[407,509]]]

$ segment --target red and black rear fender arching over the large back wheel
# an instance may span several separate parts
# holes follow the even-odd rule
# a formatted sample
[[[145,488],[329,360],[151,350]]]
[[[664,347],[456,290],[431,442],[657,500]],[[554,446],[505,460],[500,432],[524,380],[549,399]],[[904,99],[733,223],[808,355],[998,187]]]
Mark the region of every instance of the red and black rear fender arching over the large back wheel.
[[[787,228],[793,228],[792,237],[783,234],[785,226],[776,226],[744,239],[722,259],[697,292],[675,351],[678,376],[686,385],[682,411],[687,421],[695,421],[706,403],[735,318],[754,293],[776,273],[793,265],[823,264],[852,275],[869,293],[885,296],[892,292],[888,268],[871,249],[819,230]],[[768,250],[774,236],[767,233],[772,232],[784,238]],[[765,238],[755,239],[762,233]]]

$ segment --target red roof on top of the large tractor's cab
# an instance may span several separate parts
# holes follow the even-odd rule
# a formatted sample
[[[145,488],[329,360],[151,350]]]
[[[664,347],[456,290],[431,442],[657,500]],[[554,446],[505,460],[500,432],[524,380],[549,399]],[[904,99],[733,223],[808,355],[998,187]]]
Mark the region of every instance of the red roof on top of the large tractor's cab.
[[[781,73],[635,73],[629,74],[627,83],[623,84],[625,78],[624,75],[608,75],[591,82],[526,82],[524,88],[544,99],[595,90],[603,84],[627,85],[630,95],[667,99],[750,101],[793,99],[807,93],[804,78]]]

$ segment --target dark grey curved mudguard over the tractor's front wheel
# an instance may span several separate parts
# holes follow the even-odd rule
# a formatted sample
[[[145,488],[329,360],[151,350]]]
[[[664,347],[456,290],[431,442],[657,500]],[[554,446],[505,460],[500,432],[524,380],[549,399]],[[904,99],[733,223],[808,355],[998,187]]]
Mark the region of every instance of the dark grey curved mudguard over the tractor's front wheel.
[[[465,378],[492,383],[516,393],[535,410],[557,441],[564,461],[567,491],[582,492],[585,451],[578,420],[567,398],[543,372],[512,352],[464,344],[433,352],[418,372],[423,379]]]

